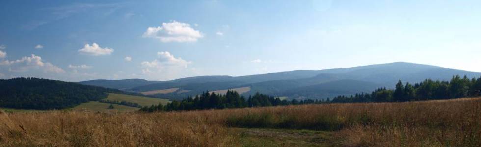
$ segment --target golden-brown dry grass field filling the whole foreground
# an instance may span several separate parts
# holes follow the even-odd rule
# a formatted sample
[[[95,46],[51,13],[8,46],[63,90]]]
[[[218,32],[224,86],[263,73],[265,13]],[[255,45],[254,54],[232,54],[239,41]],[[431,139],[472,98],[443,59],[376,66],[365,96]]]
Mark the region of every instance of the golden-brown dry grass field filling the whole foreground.
[[[278,129],[294,132],[276,135]],[[314,132],[299,137],[304,131],[295,130]],[[306,140],[306,146],[479,147],[481,98],[161,113],[0,114],[0,146],[5,147],[287,146],[296,140]]]

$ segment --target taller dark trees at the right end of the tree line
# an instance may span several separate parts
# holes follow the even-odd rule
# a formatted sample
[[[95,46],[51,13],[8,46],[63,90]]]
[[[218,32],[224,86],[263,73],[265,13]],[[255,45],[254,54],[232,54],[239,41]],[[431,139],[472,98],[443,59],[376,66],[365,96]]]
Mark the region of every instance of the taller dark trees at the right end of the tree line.
[[[469,79],[453,76],[450,81],[433,81],[426,79],[421,83],[402,83],[400,80],[394,90],[379,88],[371,94],[361,93],[347,96],[337,96],[332,103],[351,102],[405,102],[434,99],[452,99],[476,97],[481,95],[481,77]]]

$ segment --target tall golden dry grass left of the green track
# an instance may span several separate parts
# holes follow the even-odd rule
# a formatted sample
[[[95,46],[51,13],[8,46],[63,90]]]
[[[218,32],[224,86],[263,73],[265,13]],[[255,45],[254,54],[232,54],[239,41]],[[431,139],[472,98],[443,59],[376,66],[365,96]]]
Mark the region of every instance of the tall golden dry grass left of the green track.
[[[218,147],[236,145],[232,133],[182,113],[47,112],[2,114],[0,146]],[[235,134],[234,134],[235,135]]]

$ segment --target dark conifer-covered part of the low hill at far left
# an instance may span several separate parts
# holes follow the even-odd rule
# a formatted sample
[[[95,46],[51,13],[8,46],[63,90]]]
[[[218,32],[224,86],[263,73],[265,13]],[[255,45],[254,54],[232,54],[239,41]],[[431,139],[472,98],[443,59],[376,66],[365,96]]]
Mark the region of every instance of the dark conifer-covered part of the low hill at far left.
[[[0,107],[16,109],[63,109],[107,98],[116,89],[41,78],[0,80]]]

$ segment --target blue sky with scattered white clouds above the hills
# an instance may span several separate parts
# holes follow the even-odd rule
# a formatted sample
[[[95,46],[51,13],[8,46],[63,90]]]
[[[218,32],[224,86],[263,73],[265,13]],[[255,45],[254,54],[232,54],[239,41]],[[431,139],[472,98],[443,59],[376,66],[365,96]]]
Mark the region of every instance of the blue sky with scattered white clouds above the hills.
[[[0,79],[411,62],[481,72],[480,0],[1,0]]]

